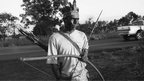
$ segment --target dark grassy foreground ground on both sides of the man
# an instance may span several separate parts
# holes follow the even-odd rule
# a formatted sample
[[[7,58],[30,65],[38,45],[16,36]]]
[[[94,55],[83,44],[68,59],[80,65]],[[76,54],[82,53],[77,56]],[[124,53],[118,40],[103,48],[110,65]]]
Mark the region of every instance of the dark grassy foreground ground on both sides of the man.
[[[91,51],[89,60],[100,70],[105,80],[144,80],[143,53],[138,47]],[[32,66],[39,68],[42,73]],[[102,81],[98,73],[88,65],[90,81]],[[46,60],[22,62],[18,59],[0,61],[0,80],[53,81],[54,75]]]

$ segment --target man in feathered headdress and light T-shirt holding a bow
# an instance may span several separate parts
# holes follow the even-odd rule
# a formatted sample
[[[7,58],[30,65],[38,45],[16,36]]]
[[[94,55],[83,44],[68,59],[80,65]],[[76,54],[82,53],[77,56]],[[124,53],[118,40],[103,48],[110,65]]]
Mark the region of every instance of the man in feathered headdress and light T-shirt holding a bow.
[[[74,7],[76,6],[75,3],[74,0]],[[78,10],[74,7],[72,9],[66,7],[67,10],[64,11],[67,12],[63,12],[65,25],[63,34],[78,45],[80,52],[69,40],[57,32],[53,33],[49,39],[48,55],[76,55],[82,56],[82,59],[73,57],[51,58],[47,59],[47,63],[52,65],[57,80],[88,81],[88,71],[85,68],[89,48],[88,40],[83,32],[76,30],[79,15]]]

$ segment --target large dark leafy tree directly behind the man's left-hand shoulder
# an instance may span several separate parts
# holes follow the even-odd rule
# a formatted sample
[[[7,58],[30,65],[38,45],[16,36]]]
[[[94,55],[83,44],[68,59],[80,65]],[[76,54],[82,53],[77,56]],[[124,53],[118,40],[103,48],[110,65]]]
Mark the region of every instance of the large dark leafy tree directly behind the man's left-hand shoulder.
[[[67,2],[67,0],[23,0],[22,7],[25,14],[21,14],[22,22],[26,25],[36,24],[34,34],[46,35],[50,33],[52,26],[61,23],[60,11]]]

